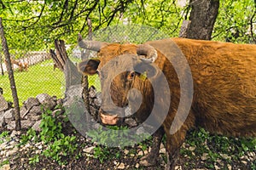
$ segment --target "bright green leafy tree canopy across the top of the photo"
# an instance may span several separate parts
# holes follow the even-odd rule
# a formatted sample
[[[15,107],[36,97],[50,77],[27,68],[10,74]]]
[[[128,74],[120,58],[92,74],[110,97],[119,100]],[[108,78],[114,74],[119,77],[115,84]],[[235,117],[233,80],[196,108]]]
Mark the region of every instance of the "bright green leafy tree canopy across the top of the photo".
[[[0,0],[0,17],[12,51],[52,48],[61,38],[75,44],[87,35],[87,19],[94,30],[120,23],[135,23],[177,37],[182,20],[189,20],[189,5],[177,0]],[[255,3],[220,0],[213,40],[255,43]]]

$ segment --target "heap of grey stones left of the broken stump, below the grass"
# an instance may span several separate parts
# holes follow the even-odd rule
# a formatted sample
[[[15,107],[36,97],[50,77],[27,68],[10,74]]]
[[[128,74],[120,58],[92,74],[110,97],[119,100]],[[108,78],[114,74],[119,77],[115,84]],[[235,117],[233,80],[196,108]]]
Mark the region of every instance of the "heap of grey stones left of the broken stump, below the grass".
[[[46,109],[55,110],[56,105],[62,105],[62,99],[51,97],[49,94],[38,94],[36,98],[28,98],[20,107],[21,128],[34,128],[39,131],[42,112]],[[15,129],[15,108],[0,94],[0,127],[8,130]]]

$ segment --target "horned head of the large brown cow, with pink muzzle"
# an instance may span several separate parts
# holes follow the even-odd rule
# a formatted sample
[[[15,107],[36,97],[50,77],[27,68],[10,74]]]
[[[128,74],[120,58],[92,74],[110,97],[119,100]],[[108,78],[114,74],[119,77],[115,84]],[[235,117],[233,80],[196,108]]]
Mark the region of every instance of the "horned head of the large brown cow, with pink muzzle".
[[[79,71],[86,75],[98,74],[102,87],[102,106],[99,112],[104,124],[119,124],[129,105],[137,122],[148,117],[154,104],[153,88],[148,77],[155,77],[157,70],[152,63],[157,51],[148,44],[117,44],[84,41],[79,46],[98,52],[95,59],[79,63]],[[146,103],[152,105],[146,105]],[[142,114],[143,113],[143,114]]]

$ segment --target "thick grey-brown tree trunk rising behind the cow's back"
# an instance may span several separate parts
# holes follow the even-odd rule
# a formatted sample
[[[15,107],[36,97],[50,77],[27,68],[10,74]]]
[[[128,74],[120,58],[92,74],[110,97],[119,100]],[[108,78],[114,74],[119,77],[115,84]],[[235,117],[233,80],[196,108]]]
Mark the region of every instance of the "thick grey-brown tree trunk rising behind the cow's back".
[[[192,8],[189,17],[191,23],[186,31],[186,37],[211,40],[219,0],[190,0],[189,6]]]

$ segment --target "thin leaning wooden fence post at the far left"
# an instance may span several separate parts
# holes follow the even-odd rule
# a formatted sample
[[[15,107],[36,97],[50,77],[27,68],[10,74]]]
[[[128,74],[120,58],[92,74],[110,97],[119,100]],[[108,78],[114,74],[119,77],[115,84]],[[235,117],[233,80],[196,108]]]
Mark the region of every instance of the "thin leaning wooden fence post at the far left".
[[[4,37],[4,32],[3,32],[3,24],[2,24],[2,18],[0,17],[0,36],[2,39],[2,47],[3,47],[3,54],[5,55],[5,59],[7,60],[8,65],[7,71],[9,74],[9,83],[10,83],[10,88],[12,90],[12,95],[14,99],[14,104],[15,104],[15,130],[20,130],[21,125],[20,125],[20,106],[19,106],[19,99],[17,95],[17,90],[15,86],[15,77],[14,77],[14,71],[11,66],[11,60],[10,60],[10,55],[9,55],[9,48],[8,44],[6,42],[6,39]]]

